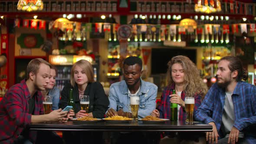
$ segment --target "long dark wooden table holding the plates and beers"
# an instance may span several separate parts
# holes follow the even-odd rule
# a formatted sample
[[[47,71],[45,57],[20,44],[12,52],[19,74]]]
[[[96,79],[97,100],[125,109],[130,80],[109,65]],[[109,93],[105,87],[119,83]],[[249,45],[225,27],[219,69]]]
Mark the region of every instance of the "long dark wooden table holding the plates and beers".
[[[47,122],[31,124],[30,130],[47,131],[212,131],[212,126],[196,122],[185,124],[185,122],[166,121],[164,123],[144,123],[142,121],[130,121],[127,123],[110,123],[98,121],[95,123],[66,123]]]

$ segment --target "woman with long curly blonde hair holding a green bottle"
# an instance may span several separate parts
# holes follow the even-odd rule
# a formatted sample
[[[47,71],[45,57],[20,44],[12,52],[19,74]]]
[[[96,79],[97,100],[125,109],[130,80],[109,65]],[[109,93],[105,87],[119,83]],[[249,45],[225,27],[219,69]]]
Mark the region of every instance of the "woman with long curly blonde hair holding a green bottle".
[[[178,104],[178,121],[185,121],[185,97],[195,98],[194,111],[196,111],[208,88],[200,78],[197,66],[187,56],[175,56],[167,65],[168,85],[161,96],[161,104],[151,112],[151,115],[170,119],[170,102],[172,102]],[[173,94],[174,89],[176,94]],[[169,134],[167,136],[171,137]]]

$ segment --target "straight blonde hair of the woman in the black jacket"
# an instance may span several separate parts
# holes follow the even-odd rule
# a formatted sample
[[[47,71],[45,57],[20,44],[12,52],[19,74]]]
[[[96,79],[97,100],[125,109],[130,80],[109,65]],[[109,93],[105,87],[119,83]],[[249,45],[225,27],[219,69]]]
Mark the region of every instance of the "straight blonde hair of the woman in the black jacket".
[[[85,75],[87,76],[88,82],[95,82],[93,79],[93,68],[90,62],[87,60],[81,59],[72,66],[71,74],[70,74],[70,83],[72,87],[75,86],[75,79],[74,79],[74,70],[75,66],[81,67],[81,69],[85,72]]]

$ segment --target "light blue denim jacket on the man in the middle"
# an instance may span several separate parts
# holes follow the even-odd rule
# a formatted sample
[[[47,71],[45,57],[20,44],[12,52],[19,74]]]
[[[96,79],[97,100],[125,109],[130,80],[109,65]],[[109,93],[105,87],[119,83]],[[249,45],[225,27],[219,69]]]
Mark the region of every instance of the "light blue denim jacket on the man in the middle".
[[[157,92],[158,87],[156,85],[141,80],[141,88],[138,92],[140,98],[138,118],[150,115],[156,108]],[[110,102],[108,109],[113,108],[116,111],[123,109],[124,112],[128,112],[130,97],[128,96],[128,87],[125,81],[116,82],[110,86],[108,99]]]

